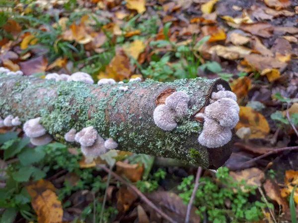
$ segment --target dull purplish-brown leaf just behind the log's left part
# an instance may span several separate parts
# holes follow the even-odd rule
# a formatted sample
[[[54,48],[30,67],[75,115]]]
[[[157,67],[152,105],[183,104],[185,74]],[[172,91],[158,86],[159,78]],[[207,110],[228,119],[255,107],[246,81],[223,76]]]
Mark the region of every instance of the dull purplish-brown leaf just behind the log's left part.
[[[45,72],[48,65],[48,59],[43,56],[38,56],[34,59],[20,62],[19,65],[21,71],[23,71],[26,76],[29,76],[33,73]]]

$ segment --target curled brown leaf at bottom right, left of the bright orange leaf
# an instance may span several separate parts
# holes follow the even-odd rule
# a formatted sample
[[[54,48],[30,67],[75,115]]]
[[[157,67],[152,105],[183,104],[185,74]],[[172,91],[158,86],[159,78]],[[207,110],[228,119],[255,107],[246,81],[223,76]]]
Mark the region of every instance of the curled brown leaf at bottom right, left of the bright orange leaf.
[[[279,205],[282,206],[283,212],[289,209],[288,202],[285,198],[281,196],[281,189],[275,180],[266,180],[266,182],[263,184],[263,187],[266,192],[266,195],[270,197],[270,199],[276,201]]]

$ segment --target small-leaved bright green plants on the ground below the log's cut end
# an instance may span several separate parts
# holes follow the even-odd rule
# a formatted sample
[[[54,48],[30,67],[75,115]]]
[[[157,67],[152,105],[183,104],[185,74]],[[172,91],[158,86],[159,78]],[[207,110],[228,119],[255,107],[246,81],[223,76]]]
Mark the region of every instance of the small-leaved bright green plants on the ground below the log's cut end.
[[[194,205],[198,207],[198,214],[202,218],[203,213],[207,213],[208,220],[214,223],[252,222],[262,219],[262,208],[266,204],[248,201],[249,196],[255,194],[256,187],[248,186],[245,182],[233,181],[227,167],[219,168],[216,177],[217,183],[210,177],[200,178],[202,184],[197,191]],[[190,175],[178,186],[182,191],[179,196],[185,204],[190,200],[194,188],[193,180],[194,176]],[[250,192],[243,192],[241,186],[249,189]],[[226,207],[226,201],[230,201],[230,209]]]

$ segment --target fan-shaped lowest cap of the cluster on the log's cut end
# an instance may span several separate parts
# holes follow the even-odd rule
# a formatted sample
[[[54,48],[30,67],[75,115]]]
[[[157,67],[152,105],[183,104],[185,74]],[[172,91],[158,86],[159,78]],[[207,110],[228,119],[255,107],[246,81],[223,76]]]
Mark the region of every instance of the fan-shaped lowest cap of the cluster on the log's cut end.
[[[232,138],[228,127],[221,126],[216,120],[205,117],[204,126],[198,142],[208,148],[218,148],[227,144]]]

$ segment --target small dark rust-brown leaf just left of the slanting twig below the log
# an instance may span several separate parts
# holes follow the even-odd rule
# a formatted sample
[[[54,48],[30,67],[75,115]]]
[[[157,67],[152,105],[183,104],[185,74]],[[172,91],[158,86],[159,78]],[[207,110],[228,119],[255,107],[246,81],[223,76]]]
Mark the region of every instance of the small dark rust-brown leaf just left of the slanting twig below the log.
[[[118,200],[117,200],[117,210],[120,213],[124,213],[135,203],[138,196],[136,193],[131,189],[127,188],[126,186],[121,186],[118,191]]]

